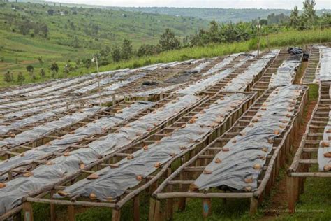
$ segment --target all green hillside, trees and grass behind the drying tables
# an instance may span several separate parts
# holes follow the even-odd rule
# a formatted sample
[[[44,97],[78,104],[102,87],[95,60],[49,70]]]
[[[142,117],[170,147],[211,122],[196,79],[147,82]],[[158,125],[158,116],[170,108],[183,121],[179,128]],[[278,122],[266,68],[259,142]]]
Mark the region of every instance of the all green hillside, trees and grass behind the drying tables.
[[[105,71],[254,50],[257,39],[267,34],[272,34],[266,38],[270,43],[264,43],[262,48],[316,43],[316,33],[311,32],[311,40],[311,36],[301,38],[304,33],[291,32],[312,29],[318,23],[331,24],[331,16],[318,17],[314,6],[314,1],[307,0],[302,15],[295,8],[290,17],[272,14],[267,20],[237,24],[212,21],[205,29],[205,21],[192,17],[69,8],[61,4],[0,3],[0,72],[10,71],[9,78],[3,76],[0,80],[0,87],[95,72],[91,62],[94,56]],[[280,21],[286,26],[279,27]],[[258,28],[258,24],[262,27]],[[272,42],[277,32],[279,42]],[[325,33],[328,30],[323,31],[323,36]],[[293,41],[294,38],[297,39]],[[329,41],[328,35],[323,41]],[[23,78],[18,77],[20,72]]]

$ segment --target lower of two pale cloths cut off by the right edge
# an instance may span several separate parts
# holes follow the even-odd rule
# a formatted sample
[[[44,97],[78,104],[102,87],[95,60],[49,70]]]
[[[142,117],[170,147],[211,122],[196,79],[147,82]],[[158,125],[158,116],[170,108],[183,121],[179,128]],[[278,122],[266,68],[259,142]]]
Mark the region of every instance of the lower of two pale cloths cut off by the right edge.
[[[330,171],[331,169],[331,111],[329,111],[328,124],[323,131],[323,140],[318,146],[317,162],[319,171]]]

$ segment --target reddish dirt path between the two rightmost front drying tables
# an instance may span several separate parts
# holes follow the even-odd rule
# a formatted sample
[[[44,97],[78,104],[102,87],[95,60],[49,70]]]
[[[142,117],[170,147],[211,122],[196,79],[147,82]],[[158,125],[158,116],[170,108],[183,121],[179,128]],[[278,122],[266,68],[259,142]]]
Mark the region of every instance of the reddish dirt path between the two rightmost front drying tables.
[[[304,135],[304,131],[306,130],[307,124],[310,120],[311,114],[316,106],[317,101],[310,101],[307,110],[304,113],[303,122],[299,127],[299,132],[295,137],[294,145],[293,145],[293,155],[296,152],[297,148],[299,148],[300,142],[302,140],[302,136]],[[288,164],[285,165],[285,169],[290,166],[289,164],[292,161],[292,157],[288,157]],[[272,197],[270,199],[269,206],[265,208],[265,214],[263,218],[260,220],[274,220],[277,216],[281,215],[281,213],[286,213],[287,209],[287,192],[286,192],[286,174],[282,173],[279,176],[279,180],[272,190]]]

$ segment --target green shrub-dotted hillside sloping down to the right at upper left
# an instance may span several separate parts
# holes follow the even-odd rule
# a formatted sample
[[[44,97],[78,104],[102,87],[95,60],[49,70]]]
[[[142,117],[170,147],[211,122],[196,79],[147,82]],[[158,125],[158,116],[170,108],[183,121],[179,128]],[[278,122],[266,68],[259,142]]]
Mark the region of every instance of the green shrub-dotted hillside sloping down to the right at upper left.
[[[133,48],[158,43],[166,28],[179,37],[208,22],[188,17],[123,12],[101,8],[0,3],[0,73],[35,69],[50,62],[75,62],[131,40]],[[42,57],[43,65],[38,62]]]

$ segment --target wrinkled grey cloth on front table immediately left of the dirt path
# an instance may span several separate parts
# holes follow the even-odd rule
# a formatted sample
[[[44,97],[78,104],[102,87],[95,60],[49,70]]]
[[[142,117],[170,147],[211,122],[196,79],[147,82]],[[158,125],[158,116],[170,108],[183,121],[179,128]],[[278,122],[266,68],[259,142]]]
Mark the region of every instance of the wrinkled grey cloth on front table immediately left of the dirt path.
[[[266,157],[272,152],[272,142],[290,123],[300,92],[305,89],[300,85],[277,87],[249,126],[223,146],[229,151],[219,152],[205,167],[193,183],[193,189],[220,187],[222,190],[255,191]]]

